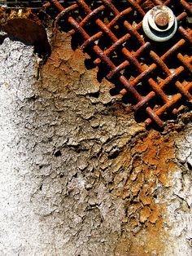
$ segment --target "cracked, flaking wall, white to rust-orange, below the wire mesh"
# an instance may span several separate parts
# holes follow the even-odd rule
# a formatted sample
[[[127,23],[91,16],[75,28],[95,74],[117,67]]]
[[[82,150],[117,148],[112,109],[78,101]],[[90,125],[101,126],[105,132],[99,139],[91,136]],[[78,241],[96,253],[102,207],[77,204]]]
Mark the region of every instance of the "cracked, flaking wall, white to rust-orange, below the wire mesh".
[[[191,255],[190,114],[145,130],[87,57],[0,46],[0,254]]]

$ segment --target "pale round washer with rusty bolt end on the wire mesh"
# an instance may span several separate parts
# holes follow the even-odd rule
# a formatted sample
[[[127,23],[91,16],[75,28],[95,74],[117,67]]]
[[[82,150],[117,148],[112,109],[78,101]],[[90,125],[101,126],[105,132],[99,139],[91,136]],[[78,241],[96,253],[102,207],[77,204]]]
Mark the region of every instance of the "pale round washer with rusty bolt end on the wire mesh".
[[[166,6],[156,6],[146,13],[142,28],[148,38],[156,42],[171,39],[177,31],[177,18]]]

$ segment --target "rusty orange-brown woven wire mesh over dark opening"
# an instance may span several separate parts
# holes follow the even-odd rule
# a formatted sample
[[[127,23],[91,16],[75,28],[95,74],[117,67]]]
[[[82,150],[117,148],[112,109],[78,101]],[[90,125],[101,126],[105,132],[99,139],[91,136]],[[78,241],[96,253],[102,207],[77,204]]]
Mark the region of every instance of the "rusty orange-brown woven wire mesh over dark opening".
[[[168,42],[152,42],[142,30],[143,17],[156,5],[170,7],[177,16],[177,33]],[[78,34],[81,50],[106,68],[116,95],[130,99],[146,125],[162,127],[168,113],[191,103],[190,2],[49,0],[46,7],[56,7],[55,22],[63,20],[65,29]]]

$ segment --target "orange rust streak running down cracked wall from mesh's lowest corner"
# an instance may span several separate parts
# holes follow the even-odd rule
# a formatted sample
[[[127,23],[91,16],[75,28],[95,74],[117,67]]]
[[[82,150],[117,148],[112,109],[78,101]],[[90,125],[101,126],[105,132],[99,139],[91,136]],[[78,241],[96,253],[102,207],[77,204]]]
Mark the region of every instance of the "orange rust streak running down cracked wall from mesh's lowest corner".
[[[166,205],[160,201],[157,191],[161,186],[171,186],[171,175],[176,170],[174,142],[171,136],[151,130],[133,142],[132,149],[128,150],[131,163],[125,166],[126,150],[128,148],[116,159],[116,163],[122,161],[124,170],[128,168],[127,179],[122,188],[116,190],[116,196],[125,201],[127,222],[123,221],[123,226],[127,225],[135,234],[129,255],[154,255],[153,251],[158,255],[164,249],[167,235],[164,232]],[[145,242],[141,245],[140,241]]]

